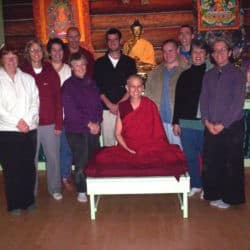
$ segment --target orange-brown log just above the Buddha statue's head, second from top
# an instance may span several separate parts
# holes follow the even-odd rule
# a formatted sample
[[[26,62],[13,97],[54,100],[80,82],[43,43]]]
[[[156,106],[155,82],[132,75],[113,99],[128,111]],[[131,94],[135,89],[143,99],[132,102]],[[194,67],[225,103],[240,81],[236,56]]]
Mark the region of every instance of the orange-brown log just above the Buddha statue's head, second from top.
[[[107,27],[128,28],[139,19],[144,27],[165,27],[193,24],[191,11],[147,13],[147,14],[119,14],[119,15],[93,15],[91,16],[91,28],[107,29]]]

